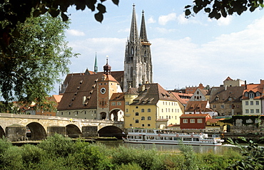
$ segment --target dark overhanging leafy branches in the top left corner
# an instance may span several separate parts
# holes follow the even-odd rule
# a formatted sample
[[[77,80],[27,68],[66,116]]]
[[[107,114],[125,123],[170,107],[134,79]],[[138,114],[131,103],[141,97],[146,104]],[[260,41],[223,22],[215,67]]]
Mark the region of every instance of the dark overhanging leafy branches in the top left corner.
[[[19,31],[16,30],[18,23],[24,23],[26,18],[33,16],[37,17],[42,14],[49,13],[52,17],[59,16],[63,21],[68,21],[66,15],[69,6],[76,6],[76,10],[84,10],[86,6],[91,11],[98,11],[94,14],[96,21],[103,21],[103,14],[106,13],[106,6],[103,6],[103,1],[106,0],[0,0],[0,46],[1,53],[9,53],[9,44],[14,36],[18,36]],[[113,4],[118,5],[119,0],[112,0]]]

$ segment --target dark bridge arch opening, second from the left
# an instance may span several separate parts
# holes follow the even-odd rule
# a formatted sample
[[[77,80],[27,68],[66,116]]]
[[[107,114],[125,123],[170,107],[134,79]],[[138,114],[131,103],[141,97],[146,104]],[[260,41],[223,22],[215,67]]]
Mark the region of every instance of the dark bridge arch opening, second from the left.
[[[38,122],[31,122],[26,125],[31,132],[32,140],[46,139],[47,133],[44,127]]]

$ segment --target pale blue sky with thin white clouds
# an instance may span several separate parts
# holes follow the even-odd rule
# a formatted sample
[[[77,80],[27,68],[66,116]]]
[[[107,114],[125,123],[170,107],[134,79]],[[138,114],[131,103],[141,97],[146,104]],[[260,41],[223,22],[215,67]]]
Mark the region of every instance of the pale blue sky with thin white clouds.
[[[70,72],[93,70],[96,56],[98,71],[103,71],[106,55],[112,71],[123,70],[135,4],[138,31],[144,11],[148,41],[152,44],[153,83],[166,90],[200,83],[220,86],[228,76],[260,83],[264,79],[264,11],[256,9],[218,20],[200,11],[185,18],[184,6],[192,1],[120,0],[116,6],[108,0],[103,2],[107,13],[102,23],[89,9],[68,9],[71,24],[65,33],[66,41],[74,53],[80,53],[78,58],[71,58]]]

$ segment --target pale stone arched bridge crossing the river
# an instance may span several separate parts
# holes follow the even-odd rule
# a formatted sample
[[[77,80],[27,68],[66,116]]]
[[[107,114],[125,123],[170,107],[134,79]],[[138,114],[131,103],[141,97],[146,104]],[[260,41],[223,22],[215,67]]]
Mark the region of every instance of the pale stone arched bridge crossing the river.
[[[71,138],[121,137],[123,130],[123,122],[111,120],[0,113],[0,137],[10,141],[45,139],[55,133]]]

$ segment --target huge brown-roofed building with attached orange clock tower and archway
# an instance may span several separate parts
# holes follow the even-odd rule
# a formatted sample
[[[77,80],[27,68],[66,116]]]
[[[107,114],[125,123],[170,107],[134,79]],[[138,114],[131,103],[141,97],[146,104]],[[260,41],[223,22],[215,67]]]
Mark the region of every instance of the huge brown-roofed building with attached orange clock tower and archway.
[[[122,99],[124,98],[120,97],[121,86],[111,75],[108,59],[103,70],[103,73],[79,74],[69,78],[58,106],[57,116],[80,119],[121,119],[123,115],[119,115],[118,118],[118,113],[123,114],[124,100]],[[118,105],[113,105],[113,102],[118,102]]]

